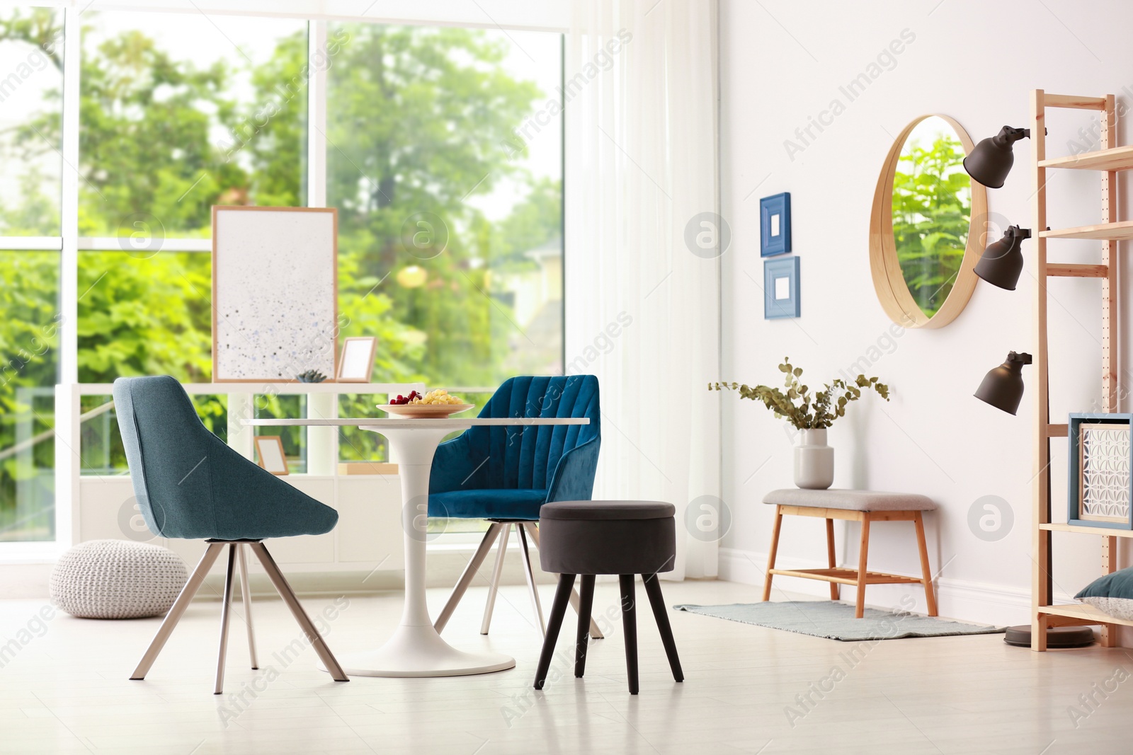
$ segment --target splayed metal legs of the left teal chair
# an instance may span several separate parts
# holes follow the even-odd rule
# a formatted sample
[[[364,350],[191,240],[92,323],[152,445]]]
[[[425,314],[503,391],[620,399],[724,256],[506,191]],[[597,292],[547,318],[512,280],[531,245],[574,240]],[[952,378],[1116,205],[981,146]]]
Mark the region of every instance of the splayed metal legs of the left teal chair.
[[[272,558],[267,549],[264,548],[262,542],[225,542],[225,541],[211,541],[208,542],[208,548],[205,550],[205,555],[202,556],[201,563],[197,564],[197,568],[193,570],[189,581],[186,582],[185,587],[181,590],[181,594],[177,597],[173,602],[173,607],[169,609],[165,615],[164,620],[161,623],[161,627],[157,628],[157,634],[154,636],[153,641],[150,643],[150,647],[146,649],[145,654],[138,662],[137,668],[134,669],[134,674],[130,675],[130,679],[144,679],[146,674],[153,667],[153,662],[157,660],[157,655],[161,653],[162,647],[165,646],[165,642],[169,636],[173,633],[173,628],[177,623],[181,620],[185,615],[185,610],[189,607],[193,601],[193,597],[196,595],[201,585],[204,583],[208,570],[212,568],[213,564],[216,563],[216,558],[220,557],[221,550],[224,546],[229,547],[228,551],[228,568],[224,574],[224,597],[223,603],[221,604],[221,621],[220,621],[220,654],[216,659],[216,680],[213,688],[213,693],[219,695],[223,690],[224,684],[224,661],[228,651],[228,629],[231,618],[232,608],[232,577],[236,570],[236,561],[239,558],[240,561],[240,590],[244,594],[244,610],[245,619],[248,625],[248,649],[252,653],[252,668],[257,668],[256,662],[256,646],[255,638],[252,630],[252,593],[248,590],[248,570],[247,560],[242,550],[244,544],[252,547],[253,552],[263,564],[264,570],[267,573],[269,578],[272,584],[275,585],[275,590],[280,593],[280,598],[287,603],[287,607],[291,610],[291,615],[298,621],[300,628],[303,628],[308,642],[314,646],[315,652],[318,653],[320,659],[326,666],[326,670],[331,672],[331,677],[335,681],[349,681],[350,679],[342,671],[338,661],[334,660],[334,655],[331,654],[330,649],[323,641],[323,637],[318,634],[315,625],[312,624],[310,618],[307,617],[307,612],[303,610],[303,606],[299,603],[298,598],[295,595],[295,591],[291,590],[291,585],[288,584],[283,574],[280,572],[279,566]]]

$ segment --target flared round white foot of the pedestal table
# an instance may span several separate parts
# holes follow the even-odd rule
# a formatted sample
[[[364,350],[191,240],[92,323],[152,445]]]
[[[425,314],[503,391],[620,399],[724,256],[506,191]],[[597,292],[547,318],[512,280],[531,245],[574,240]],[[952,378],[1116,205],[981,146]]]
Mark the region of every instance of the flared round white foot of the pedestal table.
[[[338,661],[352,677],[454,677],[516,668],[516,659],[503,653],[457,650],[432,625],[399,626],[377,650],[342,653]]]

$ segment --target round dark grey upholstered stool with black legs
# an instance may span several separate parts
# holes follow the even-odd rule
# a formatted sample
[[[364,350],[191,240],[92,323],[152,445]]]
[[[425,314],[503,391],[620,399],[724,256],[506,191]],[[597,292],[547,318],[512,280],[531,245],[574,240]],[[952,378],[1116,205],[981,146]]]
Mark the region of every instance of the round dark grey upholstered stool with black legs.
[[[676,655],[673,629],[668,624],[665,600],[657,573],[672,572],[676,557],[676,526],[672,504],[653,500],[562,500],[539,509],[539,561],[544,572],[559,574],[555,602],[547,621],[535,688],[543,689],[555,641],[570,602],[574,577],[582,576],[578,634],[574,645],[574,676],[586,669],[589,619],[594,607],[594,577],[616,574],[622,593],[622,624],[625,635],[625,667],[630,694],[638,694],[637,611],[633,575],[640,574],[657,629],[673,669],[673,678],[684,680]]]

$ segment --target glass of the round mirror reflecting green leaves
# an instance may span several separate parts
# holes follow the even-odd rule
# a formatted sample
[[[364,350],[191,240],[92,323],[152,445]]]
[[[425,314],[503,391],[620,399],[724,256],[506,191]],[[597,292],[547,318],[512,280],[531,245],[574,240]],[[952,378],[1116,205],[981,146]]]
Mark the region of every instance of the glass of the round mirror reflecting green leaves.
[[[964,147],[947,132],[922,147],[915,134],[893,177],[893,240],[901,273],[921,310],[931,317],[948,298],[964,259],[972,185]]]

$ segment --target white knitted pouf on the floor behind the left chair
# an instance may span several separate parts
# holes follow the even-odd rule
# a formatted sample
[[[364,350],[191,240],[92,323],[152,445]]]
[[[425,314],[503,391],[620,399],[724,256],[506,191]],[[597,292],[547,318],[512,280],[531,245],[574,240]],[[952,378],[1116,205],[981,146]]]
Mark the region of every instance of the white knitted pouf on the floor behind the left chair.
[[[88,540],[56,564],[51,601],[85,619],[161,616],[188,576],[185,561],[168,548],[130,540]]]

